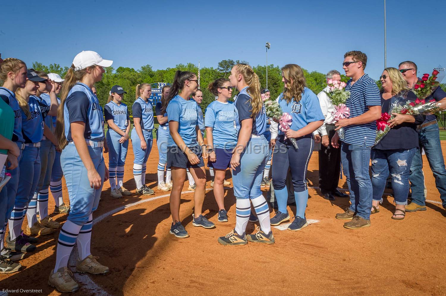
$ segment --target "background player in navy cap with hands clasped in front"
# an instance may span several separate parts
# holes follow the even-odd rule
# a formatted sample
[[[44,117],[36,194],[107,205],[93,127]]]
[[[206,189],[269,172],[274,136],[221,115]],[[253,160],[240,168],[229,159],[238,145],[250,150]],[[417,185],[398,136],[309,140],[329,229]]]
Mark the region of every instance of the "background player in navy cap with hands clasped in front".
[[[130,118],[127,105],[122,102],[124,97],[122,86],[113,85],[110,90],[107,105],[104,107],[104,116],[108,124],[108,171],[110,172],[111,197],[116,199],[123,195],[132,195],[124,188],[124,165],[127,157],[128,134],[130,133]],[[117,181],[117,182],[116,182]]]

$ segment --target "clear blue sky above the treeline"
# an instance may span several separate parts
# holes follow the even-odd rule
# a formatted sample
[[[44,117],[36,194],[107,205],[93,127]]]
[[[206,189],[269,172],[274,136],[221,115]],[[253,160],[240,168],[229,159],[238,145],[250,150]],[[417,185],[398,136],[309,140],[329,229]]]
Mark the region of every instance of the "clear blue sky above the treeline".
[[[3,1],[4,2],[4,1]],[[387,0],[387,65],[413,60],[419,73],[446,67],[446,1]],[[75,5],[72,5],[75,3]],[[71,4],[71,5],[70,5]],[[0,53],[70,66],[82,50],[115,69],[216,67],[224,59],[296,63],[342,71],[343,54],[368,55],[366,73],[384,69],[384,1],[8,1],[1,4]],[[427,8],[429,6],[429,8]],[[437,19],[435,19],[437,17]],[[444,82],[444,81],[443,81]]]

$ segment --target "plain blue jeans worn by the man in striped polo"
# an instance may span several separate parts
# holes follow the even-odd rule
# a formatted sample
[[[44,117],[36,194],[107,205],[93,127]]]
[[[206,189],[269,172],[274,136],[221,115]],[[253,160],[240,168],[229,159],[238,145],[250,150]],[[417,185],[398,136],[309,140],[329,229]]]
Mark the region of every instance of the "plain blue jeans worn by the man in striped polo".
[[[341,146],[342,169],[350,191],[350,211],[368,220],[372,208],[372,181],[368,174],[371,147],[348,144]]]

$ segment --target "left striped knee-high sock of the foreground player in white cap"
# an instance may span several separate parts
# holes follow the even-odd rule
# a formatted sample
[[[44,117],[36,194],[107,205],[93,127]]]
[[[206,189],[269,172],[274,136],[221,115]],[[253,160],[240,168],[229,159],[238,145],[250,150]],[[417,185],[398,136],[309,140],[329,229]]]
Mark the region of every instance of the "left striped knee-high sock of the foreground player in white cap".
[[[70,220],[63,223],[59,233],[54,272],[57,272],[59,268],[67,266],[71,250],[73,250],[81,227],[81,225],[74,224]]]

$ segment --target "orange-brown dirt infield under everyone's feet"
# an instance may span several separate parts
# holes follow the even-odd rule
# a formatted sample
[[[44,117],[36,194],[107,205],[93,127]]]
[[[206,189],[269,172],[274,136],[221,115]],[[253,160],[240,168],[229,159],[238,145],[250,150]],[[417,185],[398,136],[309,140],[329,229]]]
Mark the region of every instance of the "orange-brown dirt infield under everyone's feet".
[[[446,151],[444,141],[442,148]],[[134,191],[133,154],[132,149],[128,151],[124,186]],[[107,157],[105,154],[106,163]],[[227,190],[229,222],[218,223],[209,182],[203,209],[216,228],[192,226],[194,203],[189,192],[182,195],[181,219],[190,238],[170,235],[169,192],[156,188],[157,160],[154,143],[146,179],[156,195],[113,199],[109,183],[104,185],[94,213],[91,252],[111,272],[107,276],[76,275],[82,284],[78,295],[445,295],[446,218],[425,158],[427,199],[431,201],[427,211],[392,220],[393,199],[385,194],[380,212],[372,215],[372,227],[348,230],[343,228],[344,221],[335,219],[335,214],[347,207],[348,199],[330,203],[312,188],[306,216],[314,223],[297,232],[272,228],[275,244],[245,246],[217,243],[217,238],[235,225],[235,198],[232,189]],[[308,177],[317,187],[317,152],[310,160]],[[227,178],[231,181],[229,173]],[[347,188],[344,182],[340,181],[340,187]],[[188,192],[187,182],[183,191]],[[68,200],[65,184],[63,193]],[[138,201],[141,203],[124,207]],[[49,212],[53,209],[50,198]],[[108,215],[111,211],[116,212]],[[289,207],[289,211],[295,208]],[[64,222],[66,215],[53,218]],[[247,233],[256,226],[248,223]],[[47,285],[58,233],[40,237],[37,250],[20,261],[26,267],[21,272],[0,275],[0,292],[6,288],[41,289],[9,295],[60,295]]]

